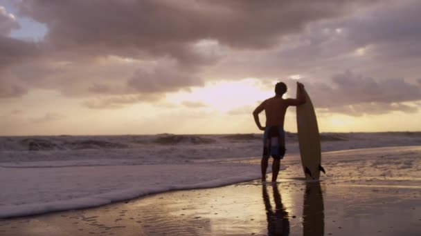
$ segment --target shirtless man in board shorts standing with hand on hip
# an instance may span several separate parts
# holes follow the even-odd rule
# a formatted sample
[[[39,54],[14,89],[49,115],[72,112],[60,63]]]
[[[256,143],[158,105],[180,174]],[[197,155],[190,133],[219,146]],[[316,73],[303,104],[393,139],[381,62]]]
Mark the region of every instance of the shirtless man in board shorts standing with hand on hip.
[[[287,92],[285,83],[276,83],[275,97],[266,99],[253,111],[254,121],[260,130],[265,130],[263,135],[263,155],[262,155],[262,181],[266,181],[266,169],[269,157],[274,157],[272,163],[272,182],[276,181],[279,173],[280,159],[285,155],[285,132],[284,120],[285,112],[289,106],[298,106],[305,103],[303,83],[298,83],[298,93],[296,99],[283,99]],[[260,124],[259,113],[265,110],[266,127]]]

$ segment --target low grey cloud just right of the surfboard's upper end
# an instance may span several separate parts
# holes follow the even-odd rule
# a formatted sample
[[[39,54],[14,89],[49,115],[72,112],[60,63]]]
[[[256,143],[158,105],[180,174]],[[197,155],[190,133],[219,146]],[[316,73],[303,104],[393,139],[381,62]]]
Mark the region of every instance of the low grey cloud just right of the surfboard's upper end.
[[[421,100],[420,88],[400,78],[374,79],[347,71],[334,75],[331,80],[331,83],[304,81],[315,106],[327,108],[328,112],[348,115],[381,114],[393,110],[415,112],[418,108],[404,103]]]

